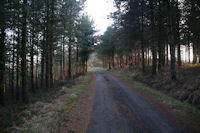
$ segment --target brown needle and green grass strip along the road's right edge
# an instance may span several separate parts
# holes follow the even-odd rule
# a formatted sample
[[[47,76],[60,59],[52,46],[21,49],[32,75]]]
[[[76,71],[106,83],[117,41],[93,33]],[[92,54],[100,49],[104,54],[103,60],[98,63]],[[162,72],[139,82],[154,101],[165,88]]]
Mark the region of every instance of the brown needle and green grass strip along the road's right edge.
[[[171,121],[173,121],[185,133],[199,133],[200,131],[200,112],[186,103],[182,103],[166,94],[152,89],[147,85],[135,81],[130,77],[118,74],[116,72],[103,71],[120,80],[129,88],[136,91],[142,98],[152,106],[163,112]]]

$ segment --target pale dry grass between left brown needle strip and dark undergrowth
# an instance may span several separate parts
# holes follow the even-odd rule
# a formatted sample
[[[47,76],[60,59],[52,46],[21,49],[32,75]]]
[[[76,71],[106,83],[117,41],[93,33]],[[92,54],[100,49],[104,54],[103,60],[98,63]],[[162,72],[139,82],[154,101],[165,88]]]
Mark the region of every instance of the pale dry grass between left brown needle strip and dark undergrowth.
[[[44,100],[28,105],[24,110],[16,115],[20,122],[16,121],[11,128],[3,132],[10,133],[46,133],[57,132],[56,126],[61,125],[60,119],[67,121],[67,116],[79,102],[80,96],[89,86],[92,73],[88,72],[80,76],[72,85],[66,83],[61,89],[48,94]]]

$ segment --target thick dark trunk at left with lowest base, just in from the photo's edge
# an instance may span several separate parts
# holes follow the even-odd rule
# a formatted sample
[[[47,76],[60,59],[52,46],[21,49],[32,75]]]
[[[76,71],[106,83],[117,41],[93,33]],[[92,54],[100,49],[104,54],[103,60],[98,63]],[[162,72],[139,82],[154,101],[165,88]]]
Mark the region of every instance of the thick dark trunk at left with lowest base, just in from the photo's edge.
[[[26,39],[27,39],[27,0],[23,1],[23,22],[22,22],[22,60],[21,60],[21,76],[22,76],[22,100],[24,103],[28,102],[27,89],[27,63],[26,63]]]

